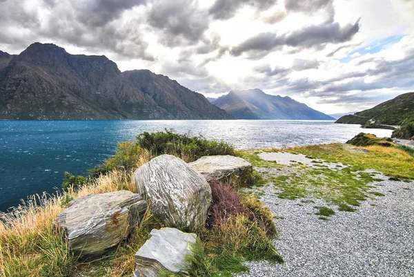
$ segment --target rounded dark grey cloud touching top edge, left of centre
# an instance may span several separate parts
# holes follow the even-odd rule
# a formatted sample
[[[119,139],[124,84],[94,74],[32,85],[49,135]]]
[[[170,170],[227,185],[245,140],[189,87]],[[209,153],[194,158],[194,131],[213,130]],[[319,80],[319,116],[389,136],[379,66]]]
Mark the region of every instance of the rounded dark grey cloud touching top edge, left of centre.
[[[164,32],[163,44],[177,46],[197,44],[208,29],[210,19],[191,0],[158,0],[152,5],[148,23]]]

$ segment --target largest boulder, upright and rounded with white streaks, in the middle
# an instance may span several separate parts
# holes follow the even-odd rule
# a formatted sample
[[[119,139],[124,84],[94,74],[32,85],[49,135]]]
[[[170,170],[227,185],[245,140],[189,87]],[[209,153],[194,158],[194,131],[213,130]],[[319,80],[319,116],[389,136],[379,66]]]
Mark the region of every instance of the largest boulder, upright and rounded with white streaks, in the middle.
[[[168,227],[194,230],[204,225],[211,202],[206,178],[183,160],[160,155],[134,174],[138,193]]]

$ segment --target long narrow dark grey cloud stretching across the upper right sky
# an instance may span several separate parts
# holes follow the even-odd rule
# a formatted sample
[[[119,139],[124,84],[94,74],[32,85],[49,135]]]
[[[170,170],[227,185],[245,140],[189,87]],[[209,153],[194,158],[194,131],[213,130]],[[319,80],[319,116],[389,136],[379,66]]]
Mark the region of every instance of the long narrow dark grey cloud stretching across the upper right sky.
[[[302,30],[297,30],[289,34],[277,35],[265,32],[255,37],[247,39],[242,44],[235,46],[230,51],[232,55],[239,56],[244,52],[260,58],[282,46],[292,46],[299,48],[311,48],[324,46],[326,44],[338,44],[349,41],[359,31],[359,21],[348,24],[344,27],[339,23],[322,23],[320,25],[309,26]]]

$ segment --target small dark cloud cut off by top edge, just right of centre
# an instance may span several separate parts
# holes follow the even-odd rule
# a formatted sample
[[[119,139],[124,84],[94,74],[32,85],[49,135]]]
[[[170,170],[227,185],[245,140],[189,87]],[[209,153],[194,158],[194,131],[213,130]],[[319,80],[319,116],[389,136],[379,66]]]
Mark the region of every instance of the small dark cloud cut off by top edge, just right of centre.
[[[245,5],[259,10],[269,8],[277,3],[275,0],[216,0],[208,11],[215,19],[230,19],[237,10]]]

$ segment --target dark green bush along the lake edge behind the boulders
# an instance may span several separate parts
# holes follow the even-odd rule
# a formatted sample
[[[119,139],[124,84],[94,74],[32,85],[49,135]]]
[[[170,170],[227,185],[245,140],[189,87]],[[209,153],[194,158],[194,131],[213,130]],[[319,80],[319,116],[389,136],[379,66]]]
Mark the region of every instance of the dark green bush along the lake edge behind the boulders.
[[[151,151],[154,155],[171,154],[186,162],[197,160],[206,155],[234,155],[234,146],[224,141],[206,140],[204,137],[180,135],[172,130],[148,133],[137,136],[137,145]]]

